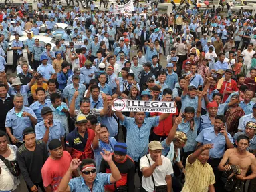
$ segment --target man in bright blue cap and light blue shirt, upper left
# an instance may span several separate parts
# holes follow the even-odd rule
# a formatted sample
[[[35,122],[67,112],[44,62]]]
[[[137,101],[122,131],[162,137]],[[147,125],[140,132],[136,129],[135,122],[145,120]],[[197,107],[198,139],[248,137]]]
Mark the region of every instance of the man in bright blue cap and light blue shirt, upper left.
[[[48,59],[45,55],[41,55],[40,60],[41,65],[37,68],[37,72],[43,75],[43,81],[47,83],[49,79],[53,79],[56,72],[52,65],[47,64]]]

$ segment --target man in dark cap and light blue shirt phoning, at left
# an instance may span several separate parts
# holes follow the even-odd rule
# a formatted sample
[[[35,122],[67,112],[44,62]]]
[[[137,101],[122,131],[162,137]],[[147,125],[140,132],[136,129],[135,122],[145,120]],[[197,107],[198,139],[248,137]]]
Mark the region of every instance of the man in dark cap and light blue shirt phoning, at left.
[[[35,125],[35,134],[37,139],[42,139],[43,142],[49,143],[52,139],[59,139],[64,144],[65,129],[61,122],[53,119],[52,110],[50,107],[43,107],[41,109],[43,121]]]

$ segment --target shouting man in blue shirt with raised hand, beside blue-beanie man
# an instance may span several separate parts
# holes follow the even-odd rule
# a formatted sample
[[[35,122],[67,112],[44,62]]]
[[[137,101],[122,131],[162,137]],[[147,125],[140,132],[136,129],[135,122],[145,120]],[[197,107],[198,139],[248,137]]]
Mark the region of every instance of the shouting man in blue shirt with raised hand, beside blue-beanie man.
[[[112,152],[116,145],[116,139],[110,137],[110,133],[108,132],[108,127],[106,127],[106,125],[98,124],[94,131],[95,136],[94,141],[92,142],[92,149],[94,150],[94,161],[96,163],[96,170],[98,173],[100,162],[102,161],[100,151],[105,149],[106,151]]]

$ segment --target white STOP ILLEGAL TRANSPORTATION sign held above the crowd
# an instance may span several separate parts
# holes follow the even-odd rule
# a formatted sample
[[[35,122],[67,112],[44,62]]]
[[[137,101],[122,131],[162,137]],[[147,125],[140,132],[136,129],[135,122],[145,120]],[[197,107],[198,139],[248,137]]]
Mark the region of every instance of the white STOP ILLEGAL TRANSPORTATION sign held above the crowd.
[[[174,101],[141,101],[114,99],[113,111],[176,113]]]

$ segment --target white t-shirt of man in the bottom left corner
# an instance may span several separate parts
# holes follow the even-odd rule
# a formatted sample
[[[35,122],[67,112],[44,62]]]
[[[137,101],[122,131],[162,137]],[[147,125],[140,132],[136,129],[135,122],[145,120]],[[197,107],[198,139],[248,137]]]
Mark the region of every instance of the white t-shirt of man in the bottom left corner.
[[[17,147],[15,145],[9,145],[8,147],[11,151],[11,154],[8,159],[9,161],[14,161],[16,160],[16,151]],[[9,171],[5,163],[0,159],[0,167],[2,170],[2,173],[0,174],[0,191],[13,191],[17,188],[19,185],[19,177],[14,177],[13,174]]]

